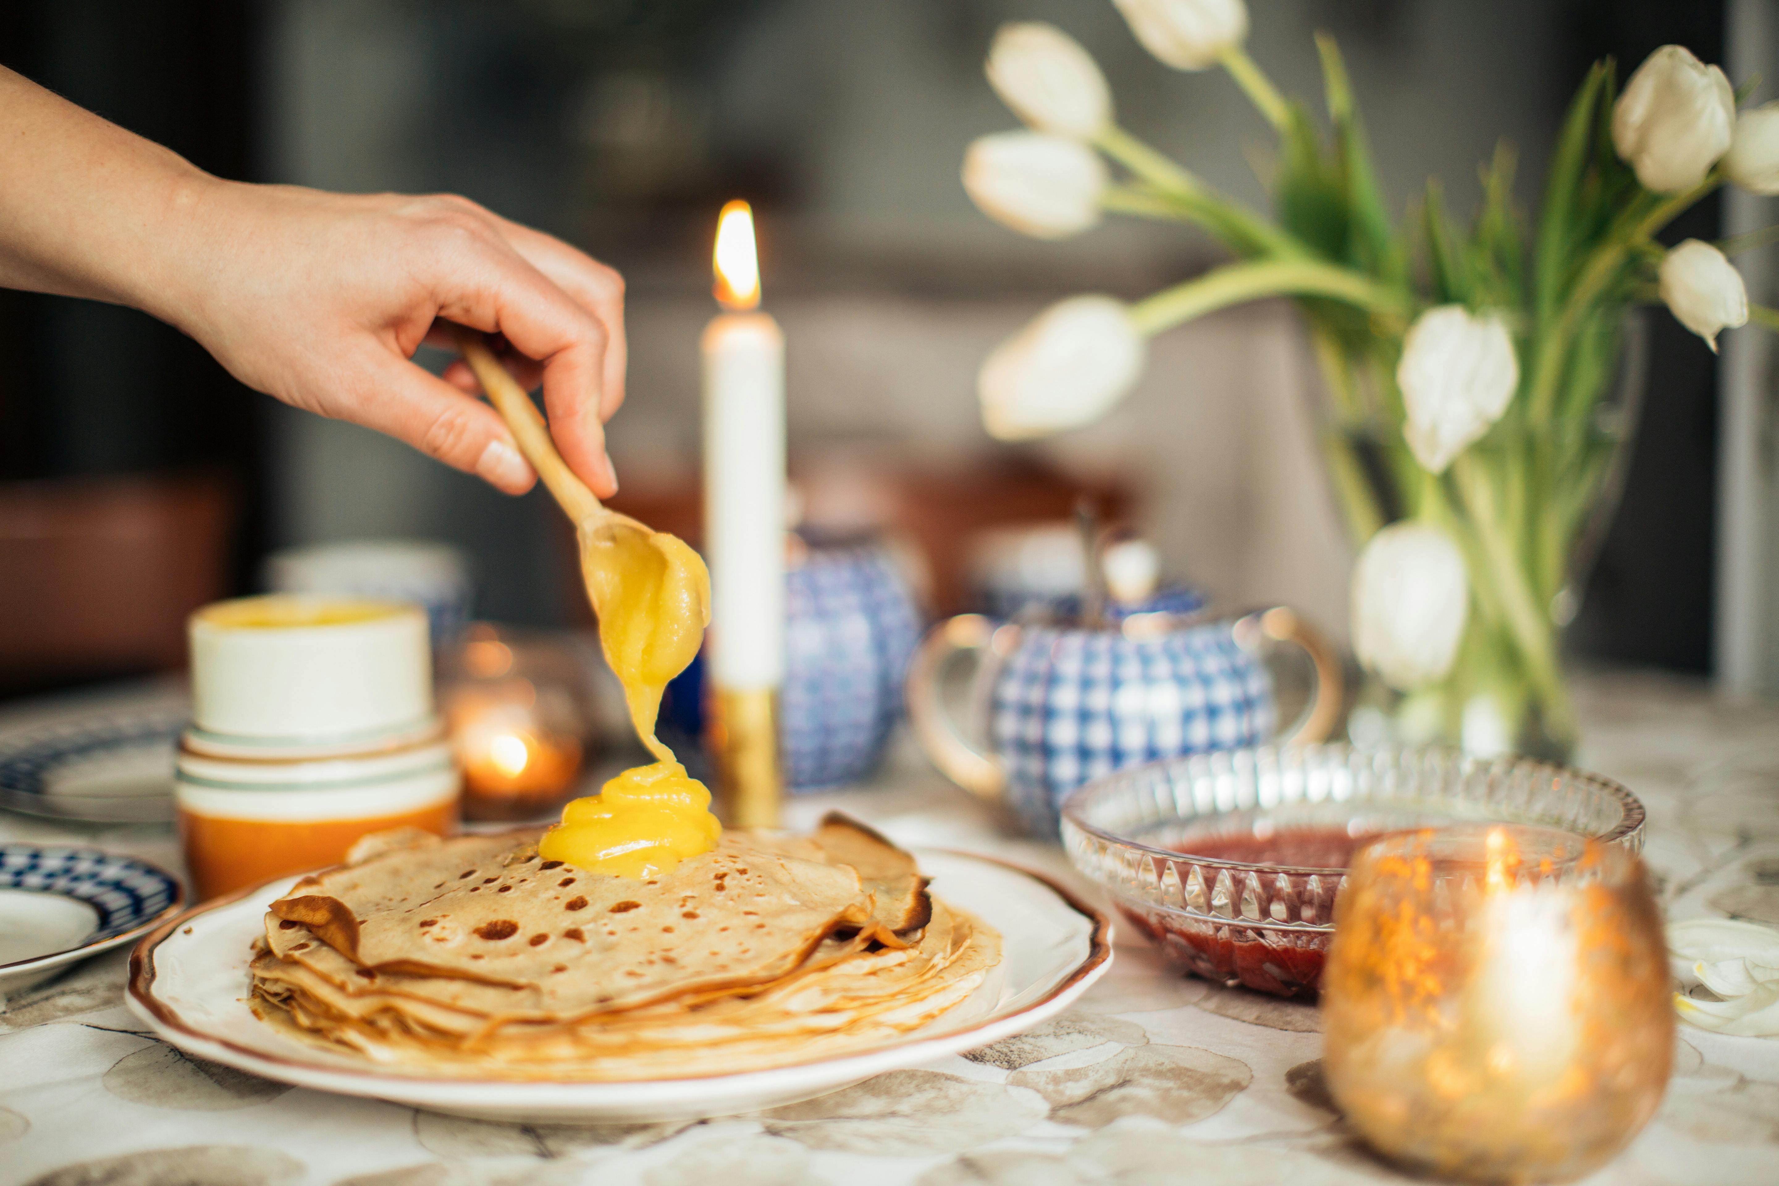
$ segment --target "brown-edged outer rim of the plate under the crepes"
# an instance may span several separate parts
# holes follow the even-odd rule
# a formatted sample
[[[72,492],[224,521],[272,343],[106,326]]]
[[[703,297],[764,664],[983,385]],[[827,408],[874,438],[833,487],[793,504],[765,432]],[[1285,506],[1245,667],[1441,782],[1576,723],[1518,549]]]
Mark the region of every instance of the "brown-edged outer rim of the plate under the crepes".
[[[194,1030],[189,1024],[185,1024],[171,1006],[167,1006],[165,1003],[158,1001],[153,996],[153,987],[155,987],[155,960],[153,960],[153,955],[155,955],[155,950],[162,942],[165,942],[174,932],[178,932],[178,928],[181,925],[185,925],[189,919],[199,918],[199,916],[208,914],[212,910],[219,910],[222,907],[235,905],[237,902],[240,902],[244,898],[249,898],[249,896],[263,891],[267,885],[272,885],[274,882],[288,880],[290,875],[286,875],[286,877],[274,877],[270,880],[260,882],[258,885],[251,885],[247,889],[238,889],[238,891],[235,891],[231,894],[226,894],[222,898],[212,898],[208,902],[201,902],[201,903],[190,907],[189,910],[180,912],[176,918],[171,918],[171,919],[160,923],[160,926],[157,926],[153,932],[142,935],[142,939],[139,939],[137,944],[135,944],[135,948],[130,951],[130,974],[128,974],[128,980],[125,982],[125,1003],[130,1006],[130,1012],[133,1012],[137,1017],[141,1017],[142,1021],[146,1021],[162,1038],[165,1038],[173,1046],[180,1046],[181,1049],[185,1049],[185,1044],[190,1042],[192,1046],[208,1047],[212,1051],[224,1051],[228,1056],[233,1056],[235,1060],[240,1060],[240,1062],[233,1063],[238,1069],[249,1069],[249,1067],[242,1067],[244,1062],[272,1063],[276,1067],[288,1067],[288,1069],[292,1069],[292,1070],[295,1070],[299,1074],[304,1074],[304,1076],[318,1076],[318,1078],[342,1076],[347,1081],[356,1083],[356,1085],[363,1085],[363,1086],[374,1086],[377,1083],[395,1083],[395,1085],[402,1085],[404,1088],[422,1088],[422,1090],[425,1090],[425,1088],[432,1088],[432,1090],[443,1088],[443,1095],[447,1095],[447,1097],[457,1095],[457,1094],[463,1094],[463,1092],[480,1092],[480,1090],[491,1090],[491,1088],[500,1088],[500,1090],[503,1090],[507,1094],[514,1094],[514,1095],[519,1095],[519,1094],[525,1094],[525,1095],[543,1095],[543,1094],[548,1094],[548,1092],[589,1090],[589,1088],[594,1088],[594,1090],[612,1090],[612,1092],[623,1090],[623,1092],[632,1092],[632,1094],[640,1092],[644,1095],[658,1095],[658,1094],[669,1094],[674,1088],[685,1088],[687,1085],[706,1085],[710,1090],[720,1090],[722,1086],[745,1088],[749,1081],[753,1081],[756,1076],[761,1076],[761,1074],[811,1070],[815,1067],[834,1067],[834,1069],[838,1069],[838,1067],[843,1067],[847,1063],[865,1063],[868,1060],[890,1058],[891,1062],[904,1063],[907,1060],[907,1054],[920,1051],[920,1047],[923,1047],[927,1044],[948,1044],[950,1040],[954,1040],[954,1038],[957,1038],[961,1035],[971,1035],[973,1037],[978,1031],[984,1035],[984,1040],[980,1044],[987,1046],[991,1042],[998,1042],[1002,1037],[1007,1037],[1005,1033],[1002,1033],[1002,1030],[1005,1030],[1007,1033],[1018,1033],[1018,1030],[1019,1030],[1018,1022],[1021,1022],[1030,1014],[1044,1010],[1046,1006],[1051,1006],[1057,1001],[1062,1001],[1064,1005],[1071,1003],[1076,996],[1080,996],[1082,992],[1087,990],[1087,985],[1091,985],[1094,980],[1098,980],[1099,976],[1103,976],[1105,971],[1112,966],[1112,955],[1114,955],[1114,950],[1112,950],[1112,919],[1108,916],[1105,916],[1103,912],[1099,912],[1098,909],[1094,909],[1092,905],[1089,905],[1087,902],[1083,902],[1080,894],[1076,894],[1069,887],[1062,885],[1060,882],[1057,882],[1057,878],[1050,877],[1048,873],[1039,873],[1037,869],[1025,868],[1023,864],[1016,864],[1016,862],[1005,861],[1002,857],[991,857],[991,855],[978,853],[978,852],[964,852],[964,850],[959,850],[959,848],[938,848],[938,846],[918,845],[916,850],[925,850],[925,852],[943,853],[943,855],[948,855],[948,857],[961,857],[961,859],[966,859],[966,861],[977,861],[977,862],[982,862],[982,864],[991,864],[991,866],[996,866],[996,868],[1018,873],[1021,877],[1030,877],[1032,880],[1039,882],[1041,885],[1044,885],[1046,889],[1050,889],[1053,894],[1057,894],[1066,907],[1069,907],[1071,910],[1075,910],[1076,914],[1080,914],[1091,925],[1091,930],[1089,930],[1089,935],[1087,935],[1087,955],[1069,971],[1067,976],[1064,976],[1059,983],[1055,983],[1042,998],[1039,998],[1037,1001],[1032,1001],[1030,1005],[1025,1005],[1025,1006],[1021,1006],[1021,1008],[1018,1008],[1018,1010],[1014,1010],[1010,1014],[1005,1014],[1002,1017],[989,1017],[987,1021],[982,1021],[982,1022],[978,1022],[975,1026],[968,1026],[964,1030],[952,1030],[952,1031],[946,1031],[946,1033],[934,1033],[934,1035],[925,1035],[925,1037],[898,1038],[898,1040],[888,1042],[884,1046],[870,1047],[870,1049],[865,1049],[865,1051],[854,1051],[850,1054],[838,1054],[838,1056],[829,1056],[829,1058],[811,1058],[811,1060],[806,1060],[806,1062],[785,1063],[785,1065],[776,1065],[776,1067],[758,1067],[758,1069],[753,1069],[753,1070],[726,1070],[726,1072],[703,1074],[703,1076],[678,1076],[678,1078],[671,1078],[671,1079],[608,1079],[608,1081],[585,1081],[585,1079],[455,1079],[455,1078],[439,1078],[439,1076],[423,1076],[423,1074],[404,1074],[400,1070],[384,1070],[384,1069],[317,1065],[317,1063],[311,1063],[311,1062],[302,1062],[302,1060],[297,1060],[297,1058],[288,1058],[285,1054],[267,1054],[267,1053],[251,1049],[247,1046],[242,1046],[242,1044],[228,1040],[228,1038],[219,1038],[219,1037],[213,1037],[213,1035],[199,1033],[197,1030]],[[301,877],[301,875],[297,875],[297,877]],[[174,1042],[173,1037],[169,1037],[169,1035],[178,1035],[180,1040]],[[950,1051],[946,1051],[946,1053],[950,1053]],[[938,1056],[938,1054],[934,1054],[934,1056]],[[212,1054],[212,1058],[215,1058],[215,1054]],[[222,1060],[219,1058],[219,1062],[222,1062]],[[907,1062],[907,1065],[918,1065],[918,1062],[922,1062],[922,1060],[916,1058],[913,1062]],[[850,1074],[850,1072],[847,1072],[847,1074]],[[870,1067],[859,1067],[857,1078],[868,1078],[872,1074],[877,1074],[877,1070],[870,1069]],[[845,1078],[845,1074],[840,1076],[840,1079],[843,1079],[843,1078]],[[836,1081],[840,1081],[840,1079],[836,1079]],[[317,1086],[317,1085],[310,1085],[310,1086]],[[336,1092],[358,1094],[358,1095],[375,1095],[375,1092],[372,1092],[372,1090],[352,1092],[347,1086],[322,1086],[320,1090],[336,1090]]]

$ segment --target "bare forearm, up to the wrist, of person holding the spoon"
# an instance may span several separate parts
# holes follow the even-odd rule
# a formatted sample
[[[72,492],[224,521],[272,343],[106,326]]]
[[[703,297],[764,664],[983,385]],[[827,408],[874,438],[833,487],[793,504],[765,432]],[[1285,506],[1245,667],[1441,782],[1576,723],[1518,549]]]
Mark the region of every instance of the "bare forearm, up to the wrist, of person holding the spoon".
[[[176,153],[0,68],[0,286],[91,297],[173,320],[224,187]]]

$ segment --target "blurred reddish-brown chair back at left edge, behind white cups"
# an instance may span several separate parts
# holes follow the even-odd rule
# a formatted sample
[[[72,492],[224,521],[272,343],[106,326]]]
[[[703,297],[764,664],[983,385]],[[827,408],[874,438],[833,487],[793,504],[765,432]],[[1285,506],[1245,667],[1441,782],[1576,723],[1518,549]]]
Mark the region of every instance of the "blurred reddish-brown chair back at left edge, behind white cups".
[[[231,517],[219,478],[0,484],[0,693],[183,667]]]

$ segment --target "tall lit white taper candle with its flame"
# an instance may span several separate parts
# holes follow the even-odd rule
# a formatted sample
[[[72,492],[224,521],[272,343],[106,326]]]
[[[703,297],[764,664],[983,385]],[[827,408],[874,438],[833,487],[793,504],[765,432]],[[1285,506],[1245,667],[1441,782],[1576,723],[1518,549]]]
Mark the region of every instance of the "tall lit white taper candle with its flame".
[[[719,688],[785,676],[785,334],[760,304],[753,213],[717,226],[717,299],[704,327],[704,560],[710,674]]]

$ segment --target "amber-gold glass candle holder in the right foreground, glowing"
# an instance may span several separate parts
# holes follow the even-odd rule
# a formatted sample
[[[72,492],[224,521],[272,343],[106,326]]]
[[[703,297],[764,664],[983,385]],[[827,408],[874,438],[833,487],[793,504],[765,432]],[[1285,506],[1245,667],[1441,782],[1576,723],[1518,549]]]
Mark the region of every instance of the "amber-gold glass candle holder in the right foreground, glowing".
[[[1356,855],[1334,918],[1324,1072],[1389,1158],[1567,1181],[1654,1115],[1674,1010],[1630,852],[1516,825],[1398,832]]]

